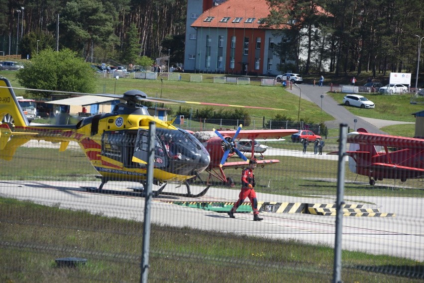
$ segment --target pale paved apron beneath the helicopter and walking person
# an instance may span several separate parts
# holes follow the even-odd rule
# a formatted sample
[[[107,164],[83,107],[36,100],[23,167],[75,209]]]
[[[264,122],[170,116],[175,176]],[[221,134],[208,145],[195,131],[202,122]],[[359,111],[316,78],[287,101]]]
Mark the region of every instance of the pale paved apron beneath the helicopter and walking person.
[[[144,198],[90,193],[81,187],[97,187],[98,182],[0,181],[0,196],[31,200],[44,205],[82,209],[105,216],[143,220]],[[136,183],[109,182],[105,189],[133,188]],[[192,192],[203,188],[192,186]],[[184,192],[169,184],[165,191]],[[235,201],[238,189],[211,188],[201,198],[160,195],[152,204],[152,222],[188,226],[223,234],[248,234],[273,239],[296,239],[310,244],[334,245],[335,217],[301,213],[263,212],[261,222],[252,221],[251,213],[226,213],[189,208],[168,201]],[[257,193],[259,201],[334,203],[334,196],[293,197]],[[424,261],[424,205],[422,198],[349,196],[346,203],[367,203],[395,217],[343,217],[342,248],[375,255],[392,255]],[[284,252],[284,251],[282,251]]]

